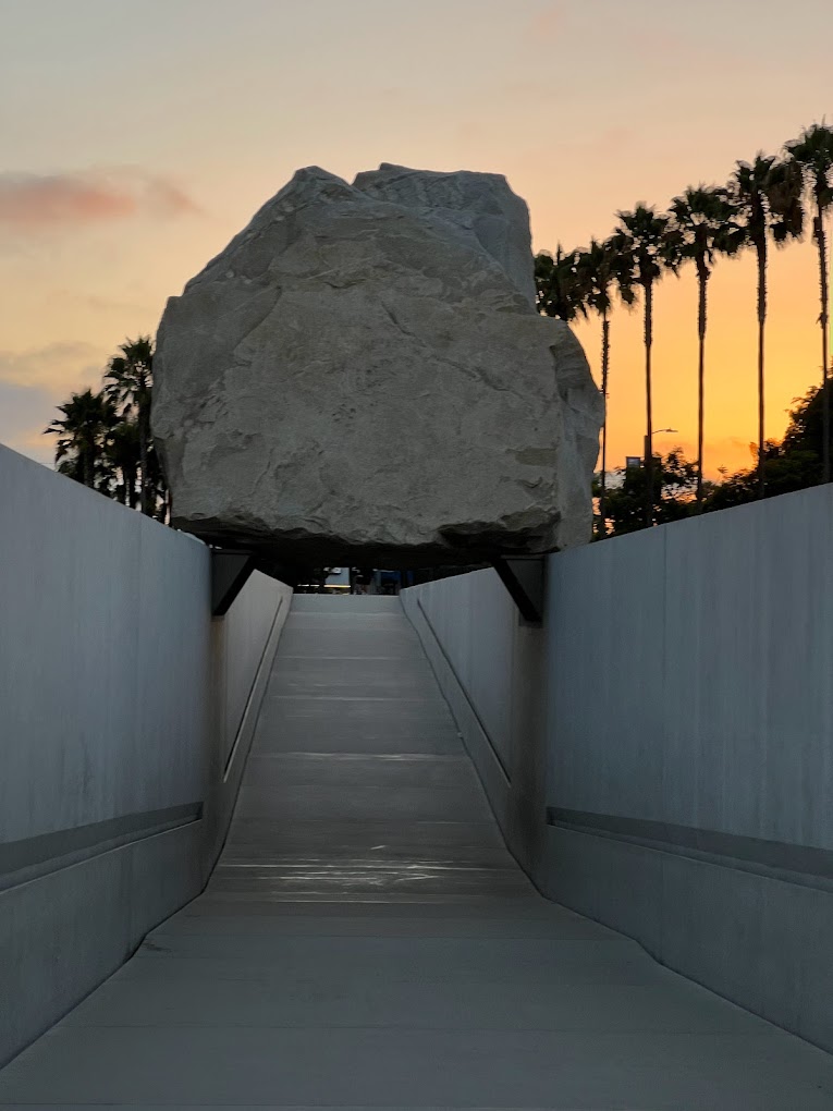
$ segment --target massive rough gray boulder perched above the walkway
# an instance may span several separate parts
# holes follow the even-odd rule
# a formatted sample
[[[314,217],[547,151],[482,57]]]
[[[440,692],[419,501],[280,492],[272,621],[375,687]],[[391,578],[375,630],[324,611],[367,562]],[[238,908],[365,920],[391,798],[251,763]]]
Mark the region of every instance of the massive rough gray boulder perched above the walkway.
[[[173,522],[319,565],[473,563],[590,536],[602,401],[534,311],[503,178],[300,170],[168,302]]]

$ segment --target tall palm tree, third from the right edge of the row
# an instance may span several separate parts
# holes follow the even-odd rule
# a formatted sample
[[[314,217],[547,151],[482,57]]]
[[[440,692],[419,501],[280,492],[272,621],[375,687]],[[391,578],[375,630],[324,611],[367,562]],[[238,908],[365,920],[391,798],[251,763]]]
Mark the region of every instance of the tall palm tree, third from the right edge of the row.
[[[703,508],[703,426],[705,411],[705,331],[707,286],[714,257],[730,248],[732,206],[727,190],[716,186],[689,188],[671,202],[680,257],[691,259],[697,271],[697,510]]]

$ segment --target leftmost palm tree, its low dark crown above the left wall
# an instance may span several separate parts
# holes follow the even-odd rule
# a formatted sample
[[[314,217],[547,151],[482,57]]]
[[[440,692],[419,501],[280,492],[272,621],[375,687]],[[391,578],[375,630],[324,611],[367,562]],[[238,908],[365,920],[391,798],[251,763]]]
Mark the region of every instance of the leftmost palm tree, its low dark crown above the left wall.
[[[84,390],[73,393],[58,410],[63,416],[43,430],[44,436],[58,437],[58,470],[91,490],[106,486],[110,474],[107,440],[119,419],[111,399],[103,392]]]

